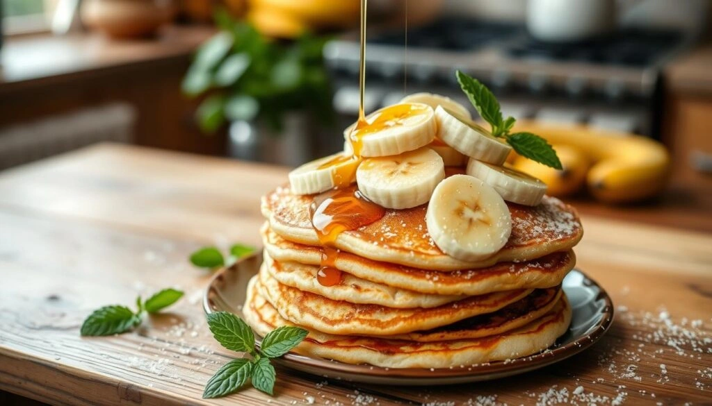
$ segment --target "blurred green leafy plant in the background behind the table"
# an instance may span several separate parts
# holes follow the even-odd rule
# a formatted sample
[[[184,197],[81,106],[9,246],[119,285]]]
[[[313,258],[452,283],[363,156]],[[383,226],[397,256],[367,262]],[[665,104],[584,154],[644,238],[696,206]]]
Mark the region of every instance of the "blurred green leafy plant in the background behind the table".
[[[197,109],[204,132],[229,121],[264,119],[276,130],[286,112],[308,108],[333,119],[332,91],[323,61],[327,38],[310,34],[286,43],[265,38],[247,23],[216,14],[221,29],[197,51],[182,89],[206,95]]]

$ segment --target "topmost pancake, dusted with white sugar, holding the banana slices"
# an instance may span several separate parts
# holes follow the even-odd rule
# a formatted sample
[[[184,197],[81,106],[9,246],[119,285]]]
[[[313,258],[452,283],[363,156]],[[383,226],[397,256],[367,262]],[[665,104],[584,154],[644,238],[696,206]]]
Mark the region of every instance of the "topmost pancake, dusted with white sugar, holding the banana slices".
[[[320,245],[309,215],[313,198],[294,195],[289,188],[277,188],[262,199],[262,213],[271,229],[286,240]],[[480,262],[456,260],[435,245],[425,223],[427,205],[386,210],[383,218],[374,223],[340,233],[335,246],[371,260],[446,271],[533,260],[570,250],[583,235],[576,211],[556,198],[545,196],[535,207],[507,205],[512,217],[511,236],[502,250]]]

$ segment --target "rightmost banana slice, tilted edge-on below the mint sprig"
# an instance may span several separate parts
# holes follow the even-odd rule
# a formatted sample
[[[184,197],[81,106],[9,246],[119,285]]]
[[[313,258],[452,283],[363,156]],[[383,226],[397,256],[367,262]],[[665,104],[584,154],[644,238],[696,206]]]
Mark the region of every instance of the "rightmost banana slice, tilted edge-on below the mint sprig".
[[[506,201],[538,205],[546,193],[546,183],[505,166],[494,166],[470,159],[467,174],[492,186]]]

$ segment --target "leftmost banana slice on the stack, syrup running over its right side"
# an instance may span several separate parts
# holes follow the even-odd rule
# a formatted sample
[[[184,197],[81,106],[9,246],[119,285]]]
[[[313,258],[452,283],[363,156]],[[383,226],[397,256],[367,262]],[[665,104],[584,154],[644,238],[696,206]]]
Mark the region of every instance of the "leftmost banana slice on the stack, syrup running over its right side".
[[[354,183],[360,159],[352,154],[337,153],[316,161],[307,162],[289,173],[292,193],[311,195],[328,191],[335,186]]]

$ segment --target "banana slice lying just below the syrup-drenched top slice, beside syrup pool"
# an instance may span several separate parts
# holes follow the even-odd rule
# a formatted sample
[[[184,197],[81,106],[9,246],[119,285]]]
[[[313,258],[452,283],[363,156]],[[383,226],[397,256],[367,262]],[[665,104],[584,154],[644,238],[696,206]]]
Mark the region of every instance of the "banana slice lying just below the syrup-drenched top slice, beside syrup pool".
[[[395,209],[427,203],[444,178],[443,160],[429,148],[365,159],[356,172],[364,196],[384,208]]]

